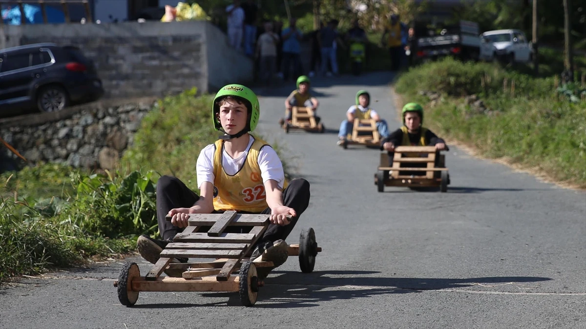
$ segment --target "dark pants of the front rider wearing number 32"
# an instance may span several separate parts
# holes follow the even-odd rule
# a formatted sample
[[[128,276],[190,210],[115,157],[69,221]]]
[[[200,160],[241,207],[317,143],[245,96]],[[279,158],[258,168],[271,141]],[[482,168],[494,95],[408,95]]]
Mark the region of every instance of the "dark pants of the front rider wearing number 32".
[[[174,208],[189,208],[192,207],[199,196],[189,189],[177,177],[162,176],[156,183],[156,217],[159,222],[159,232],[161,237],[165,240],[172,240],[176,234],[183,231],[183,228],[176,227],[171,224],[171,221],[165,220],[165,216],[169,210]],[[293,208],[297,213],[297,217],[291,218],[289,225],[281,226],[277,224],[269,224],[267,231],[264,232],[260,242],[274,242],[279,239],[286,239],[289,233],[295,227],[295,224],[301,217],[301,214],[307,209],[309,205],[309,182],[305,179],[294,179],[289,182],[287,189],[283,191],[283,204],[289,208]],[[222,213],[214,211],[214,213]],[[270,214],[271,208],[266,208],[261,214]],[[246,214],[244,211],[239,211],[239,214]],[[238,231],[233,231],[238,229]],[[238,232],[241,227],[227,227],[224,232]],[[243,229],[250,230],[250,227]],[[247,233],[247,232],[244,232]]]

